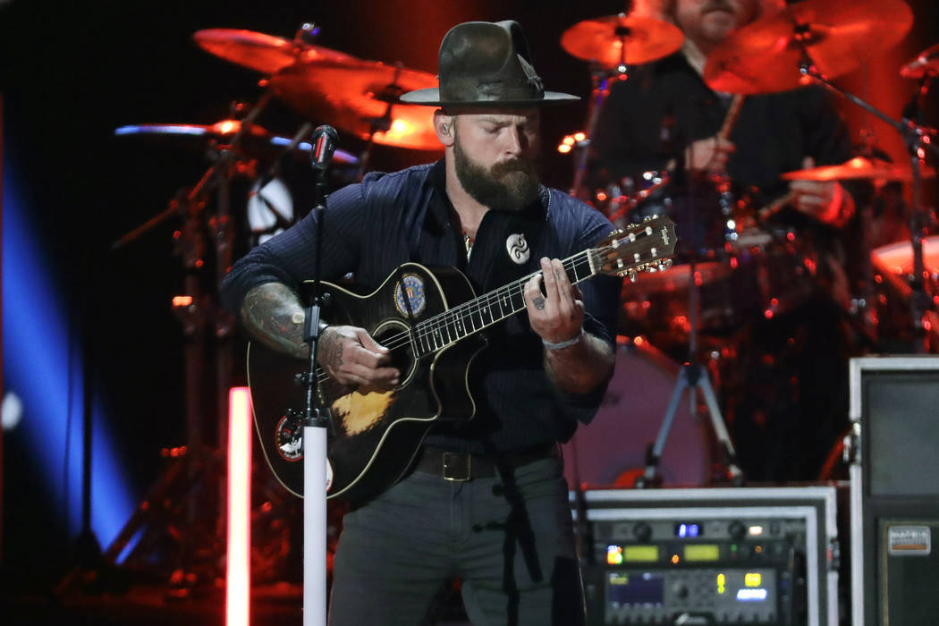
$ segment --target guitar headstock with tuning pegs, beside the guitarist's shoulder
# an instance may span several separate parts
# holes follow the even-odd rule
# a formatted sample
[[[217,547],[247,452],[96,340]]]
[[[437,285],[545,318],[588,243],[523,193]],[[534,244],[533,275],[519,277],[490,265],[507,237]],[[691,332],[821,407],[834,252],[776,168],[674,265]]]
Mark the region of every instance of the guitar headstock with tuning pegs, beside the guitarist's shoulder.
[[[670,267],[676,242],[675,223],[668,217],[654,216],[601,239],[592,251],[592,261],[597,271],[635,281],[640,271]]]

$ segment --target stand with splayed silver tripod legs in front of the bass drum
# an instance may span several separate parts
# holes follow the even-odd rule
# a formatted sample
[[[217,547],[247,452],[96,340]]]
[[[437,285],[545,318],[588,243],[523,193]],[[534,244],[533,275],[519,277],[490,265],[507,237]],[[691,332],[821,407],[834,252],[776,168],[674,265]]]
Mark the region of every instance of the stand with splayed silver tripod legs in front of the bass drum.
[[[694,186],[691,184],[693,176],[686,176],[685,167],[684,167],[684,151],[679,153],[679,159],[677,160],[677,170],[674,176],[674,179],[679,182],[685,179],[687,183],[687,196],[688,196],[688,214],[690,219],[689,230],[692,233],[692,237],[697,239],[695,228],[695,208],[693,206],[694,198]],[[678,378],[675,381],[675,387],[672,389],[671,398],[669,401],[669,406],[665,411],[665,418],[662,420],[662,425],[659,427],[658,435],[655,437],[654,444],[650,445],[650,448],[646,450],[646,468],[642,476],[636,479],[635,485],[638,488],[645,487],[654,487],[661,484],[661,476],[658,474],[658,463],[662,458],[662,451],[665,450],[666,441],[669,438],[669,433],[671,430],[671,425],[675,420],[675,412],[678,410],[678,403],[682,399],[682,395],[685,393],[685,389],[689,390],[689,401],[690,401],[690,412],[692,415],[695,414],[697,410],[697,391],[701,392],[701,395],[704,397],[704,404],[707,407],[708,416],[711,419],[711,426],[714,429],[714,434],[717,438],[717,441],[720,443],[720,446],[724,452],[724,456],[727,459],[727,476],[733,481],[733,484],[740,485],[743,484],[744,474],[740,469],[740,466],[737,464],[737,452],[733,448],[733,442],[731,441],[731,435],[727,431],[727,426],[724,424],[724,420],[721,417],[720,407],[717,405],[717,398],[714,392],[714,388],[711,387],[711,380],[708,377],[707,370],[700,365],[698,362],[698,308],[699,308],[699,299],[700,299],[700,284],[696,280],[695,275],[695,264],[698,256],[698,245],[697,241],[694,242],[690,247],[689,253],[689,263],[688,263],[688,272],[689,272],[689,288],[688,288],[688,322],[690,324],[690,331],[688,333],[688,359],[685,361],[685,364],[682,365],[681,371],[678,373]]]

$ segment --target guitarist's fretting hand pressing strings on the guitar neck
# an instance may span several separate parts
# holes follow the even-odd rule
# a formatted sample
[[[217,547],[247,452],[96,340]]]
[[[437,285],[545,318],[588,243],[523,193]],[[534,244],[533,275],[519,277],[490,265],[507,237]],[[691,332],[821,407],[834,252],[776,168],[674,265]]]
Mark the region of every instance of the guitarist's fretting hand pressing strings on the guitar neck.
[[[561,261],[543,258],[541,274],[525,283],[523,295],[531,329],[544,341],[561,344],[580,334],[584,322],[583,296],[567,278]]]

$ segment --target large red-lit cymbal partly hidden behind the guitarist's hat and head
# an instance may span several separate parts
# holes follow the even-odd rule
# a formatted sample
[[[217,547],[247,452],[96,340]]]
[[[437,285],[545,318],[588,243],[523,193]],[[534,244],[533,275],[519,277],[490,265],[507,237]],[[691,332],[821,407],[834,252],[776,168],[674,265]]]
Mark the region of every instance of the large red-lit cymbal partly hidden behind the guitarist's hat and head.
[[[399,104],[407,91],[437,86],[437,77],[377,61],[296,64],[270,78],[270,89],[300,115],[329,122],[368,139],[373,125],[376,144],[438,150],[433,108]],[[390,117],[387,115],[390,114]]]

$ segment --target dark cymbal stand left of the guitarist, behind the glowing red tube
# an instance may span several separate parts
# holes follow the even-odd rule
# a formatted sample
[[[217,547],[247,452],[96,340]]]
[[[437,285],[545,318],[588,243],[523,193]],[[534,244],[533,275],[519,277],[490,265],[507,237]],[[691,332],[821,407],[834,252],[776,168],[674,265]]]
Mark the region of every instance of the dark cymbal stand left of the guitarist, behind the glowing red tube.
[[[229,215],[230,183],[239,172],[246,169],[239,159],[239,142],[268,100],[269,94],[266,94],[254,105],[242,121],[239,132],[233,136],[229,144],[212,146],[212,150],[208,153],[211,164],[191,189],[180,191],[165,210],[120,237],[112,246],[112,250],[123,247],[172,215],[180,215],[183,219],[182,226],[174,238],[177,243],[176,253],[182,259],[186,272],[183,281],[185,293],[182,299],[175,300],[174,310],[180,318],[186,338],[183,357],[187,446],[170,454],[171,457],[176,458],[176,463],[169,466],[156,481],[149,492],[150,496],[131,515],[131,519],[122,528],[105,555],[113,563],[138,530],[147,526],[153,528],[154,525],[162,525],[180,546],[172,563],[174,572],[171,584],[174,588],[170,593],[174,596],[188,595],[188,588],[197,582],[211,584],[218,573],[210,572],[205,580],[199,581],[197,574],[190,571],[192,559],[200,551],[204,554],[207,545],[215,546],[215,549],[223,549],[224,546],[225,481],[223,480],[223,454],[220,452],[227,438],[227,392],[231,371],[231,346],[228,340],[233,327],[233,319],[213,301],[212,294],[205,293],[199,271],[205,265],[205,242],[208,238],[212,241],[214,248],[216,267],[213,278],[217,293],[218,286],[231,265],[231,244],[234,233]],[[208,197],[213,192],[215,193],[215,213],[206,220]],[[217,388],[215,398],[218,423],[217,450],[206,447],[202,433],[205,410],[202,394],[205,385],[205,342],[206,330],[209,326],[216,340],[213,347]],[[213,486],[217,487],[216,523],[208,533],[196,524],[197,514],[205,518],[207,512],[205,502],[196,500],[199,493],[195,487],[200,482],[207,485],[209,490]],[[181,498],[177,500],[174,496],[179,495]],[[178,528],[180,521],[183,522],[182,529]],[[149,537],[145,535],[134,552],[145,551],[147,547],[159,548],[158,541],[159,538],[152,533]],[[128,562],[131,561],[131,555],[128,556]],[[209,555],[208,562],[213,563],[213,567],[218,567],[222,560],[221,556]],[[145,558],[141,560],[141,565],[146,569],[152,566],[152,563]]]

